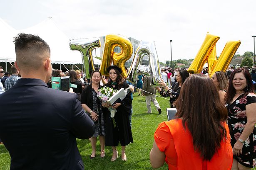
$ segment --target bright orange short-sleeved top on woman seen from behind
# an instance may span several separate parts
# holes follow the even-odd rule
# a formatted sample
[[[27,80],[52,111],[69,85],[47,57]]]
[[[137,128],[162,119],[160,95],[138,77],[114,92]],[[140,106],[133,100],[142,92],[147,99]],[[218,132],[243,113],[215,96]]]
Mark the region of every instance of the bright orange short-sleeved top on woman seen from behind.
[[[181,119],[160,123],[154,139],[159,150],[166,155],[165,162],[169,170],[231,170],[233,152],[229,127],[226,123],[224,127],[227,138],[221,141],[220,149],[210,161],[203,160],[200,153],[194,151],[192,135],[187,128],[185,131]]]

